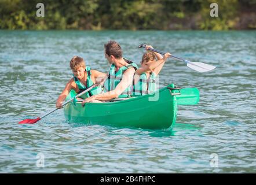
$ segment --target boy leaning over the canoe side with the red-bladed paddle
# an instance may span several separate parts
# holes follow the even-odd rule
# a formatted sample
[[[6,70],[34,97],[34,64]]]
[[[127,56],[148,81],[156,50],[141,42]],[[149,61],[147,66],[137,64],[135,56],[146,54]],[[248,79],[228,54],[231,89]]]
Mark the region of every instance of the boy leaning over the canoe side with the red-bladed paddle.
[[[90,69],[90,66],[85,65],[85,61],[82,57],[75,56],[70,61],[70,68],[73,73],[73,77],[68,81],[64,90],[61,92],[60,96],[56,101],[56,108],[62,108],[62,103],[65,101],[65,98],[73,89],[76,93],[81,93],[86,90],[86,88],[92,86],[93,84],[100,83],[99,79],[103,79],[107,74],[102,73],[96,70]],[[86,92],[82,95],[82,99],[92,97],[93,95],[100,94],[102,88],[97,86],[92,88],[92,90]]]

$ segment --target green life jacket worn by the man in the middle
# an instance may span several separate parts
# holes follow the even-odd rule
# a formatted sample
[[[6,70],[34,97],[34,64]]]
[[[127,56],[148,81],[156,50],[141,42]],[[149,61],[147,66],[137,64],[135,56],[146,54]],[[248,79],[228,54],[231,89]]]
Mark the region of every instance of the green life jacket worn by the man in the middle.
[[[110,66],[109,71],[108,71],[108,79],[105,80],[105,82],[104,82],[104,87],[103,87],[104,92],[115,90],[116,86],[120,83],[120,81],[123,78],[123,73],[127,69],[129,69],[129,68],[135,68],[135,70],[138,69],[138,66],[135,63],[128,61],[128,60],[126,60],[126,62],[128,63],[128,65],[122,66],[122,68],[120,68],[118,70],[118,72],[115,72],[116,66],[114,64],[112,64]],[[130,97],[131,88],[132,88],[131,85],[129,87],[127,87],[126,90],[123,91],[122,94],[120,94],[118,98]]]

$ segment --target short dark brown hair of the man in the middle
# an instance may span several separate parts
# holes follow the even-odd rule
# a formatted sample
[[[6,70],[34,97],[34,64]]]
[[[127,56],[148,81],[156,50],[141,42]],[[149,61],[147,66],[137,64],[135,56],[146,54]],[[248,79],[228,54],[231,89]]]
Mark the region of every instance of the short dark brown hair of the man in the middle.
[[[107,44],[104,45],[105,53],[108,56],[114,56],[115,58],[122,58],[123,52],[119,43],[115,42],[114,40],[110,40]]]

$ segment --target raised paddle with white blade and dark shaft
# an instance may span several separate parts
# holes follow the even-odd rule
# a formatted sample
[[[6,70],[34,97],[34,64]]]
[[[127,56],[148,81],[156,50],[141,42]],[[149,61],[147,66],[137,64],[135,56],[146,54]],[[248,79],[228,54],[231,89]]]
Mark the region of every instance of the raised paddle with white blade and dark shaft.
[[[146,49],[146,45],[145,44],[141,44],[138,46],[138,48],[141,48],[141,47],[144,47]],[[162,51],[159,51],[159,50],[156,50],[156,49],[152,49],[152,48],[149,48],[148,50],[151,50],[151,51],[155,51],[156,53],[160,53],[160,54],[165,54],[164,52]],[[209,65],[209,64],[204,64],[202,62],[191,62],[191,61],[188,61],[188,60],[184,60],[182,58],[179,58],[179,57],[175,57],[173,55],[171,55],[172,58],[175,58],[177,60],[180,60],[180,61],[183,61],[183,62],[186,62],[186,66],[188,66],[189,68],[195,70],[195,71],[198,71],[198,72],[207,72],[207,71],[211,71],[213,70],[214,68],[216,68],[215,66],[213,65]]]

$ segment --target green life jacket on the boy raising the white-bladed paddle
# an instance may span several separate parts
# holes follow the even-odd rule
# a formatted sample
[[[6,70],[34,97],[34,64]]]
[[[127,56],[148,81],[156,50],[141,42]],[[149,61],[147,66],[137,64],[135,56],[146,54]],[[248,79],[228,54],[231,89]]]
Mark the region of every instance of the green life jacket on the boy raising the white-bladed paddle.
[[[151,72],[149,78],[146,73],[140,75],[140,79],[136,84],[133,80],[133,92],[132,96],[141,96],[156,91],[156,76],[155,73]]]

